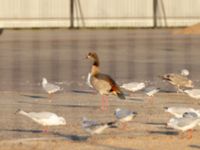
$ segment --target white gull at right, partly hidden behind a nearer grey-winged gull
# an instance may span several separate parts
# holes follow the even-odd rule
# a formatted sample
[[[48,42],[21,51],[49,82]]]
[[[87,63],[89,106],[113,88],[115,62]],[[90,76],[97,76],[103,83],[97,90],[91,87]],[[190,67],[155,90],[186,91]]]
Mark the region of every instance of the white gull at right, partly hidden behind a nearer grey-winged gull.
[[[164,109],[165,112],[171,113],[176,118],[182,118],[183,114],[186,112],[194,112],[200,117],[200,111],[190,107],[164,107]]]

